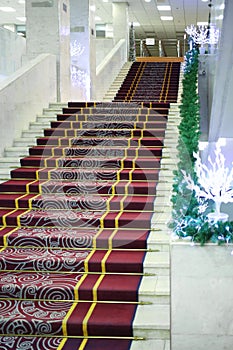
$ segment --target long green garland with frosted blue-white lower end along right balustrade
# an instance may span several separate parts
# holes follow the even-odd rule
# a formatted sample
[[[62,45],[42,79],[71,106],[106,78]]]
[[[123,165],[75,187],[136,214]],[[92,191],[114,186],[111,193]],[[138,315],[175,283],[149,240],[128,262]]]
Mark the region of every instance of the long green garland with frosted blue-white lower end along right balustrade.
[[[210,223],[204,210],[201,209],[194,191],[188,190],[183,173],[190,173],[197,183],[194,171],[195,158],[193,152],[198,152],[200,136],[200,106],[197,92],[198,51],[194,48],[187,52],[183,93],[180,106],[181,122],[178,139],[178,166],[174,171],[172,195],[172,221],[169,227],[181,238],[189,238],[192,242],[218,244],[233,242],[233,222]]]

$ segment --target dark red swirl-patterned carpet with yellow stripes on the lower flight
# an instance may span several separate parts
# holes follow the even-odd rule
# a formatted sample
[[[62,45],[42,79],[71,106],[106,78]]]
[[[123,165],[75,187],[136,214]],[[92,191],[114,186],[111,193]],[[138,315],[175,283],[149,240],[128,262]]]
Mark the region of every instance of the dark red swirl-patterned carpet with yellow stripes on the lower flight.
[[[0,184],[0,349],[130,348],[168,107],[70,103]]]

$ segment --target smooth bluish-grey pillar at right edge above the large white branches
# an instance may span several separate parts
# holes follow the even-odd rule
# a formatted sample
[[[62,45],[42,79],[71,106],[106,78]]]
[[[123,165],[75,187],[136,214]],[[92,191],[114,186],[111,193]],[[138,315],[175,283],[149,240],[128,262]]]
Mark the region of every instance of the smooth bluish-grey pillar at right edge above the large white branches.
[[[233,91],[233,41],[232,41],[233,1],[225,1],[219,57],[213,92],[210,117],[209,141],[218,138],[232,138],[232,91]]]

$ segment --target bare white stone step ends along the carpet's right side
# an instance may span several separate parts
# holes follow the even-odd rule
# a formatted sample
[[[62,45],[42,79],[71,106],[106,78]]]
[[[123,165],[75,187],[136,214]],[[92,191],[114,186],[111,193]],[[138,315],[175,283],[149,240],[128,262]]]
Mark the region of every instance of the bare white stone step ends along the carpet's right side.
[[[171,350],[170,345],[170,237],[168,223],[172,218],[173,171],[177,168],[178,125],[180,123],[179,103],[182,94],[183,71],[180,73],[178,103],[171,103],[166,138],[164,142],[160,183],[154,203],[151,233],[147,240],[150,250],[144,260],[144,271],[140,286],[140,301],[148,305],[139,305],[134,320],[134,335],[139,337],[130,350]],[[156,255],[153,252],[157,251]],[[158,251],[159,259],[158,259]],[[140,340],[140,337],[144,340]]]

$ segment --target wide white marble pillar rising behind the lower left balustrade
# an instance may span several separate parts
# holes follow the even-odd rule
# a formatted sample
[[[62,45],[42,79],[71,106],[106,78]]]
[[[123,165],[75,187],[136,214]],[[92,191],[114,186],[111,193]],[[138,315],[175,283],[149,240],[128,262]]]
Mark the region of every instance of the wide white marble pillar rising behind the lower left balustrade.
[[[57,100],[70,99],[69,0],[27,0],[27,56],[56,55]],[[43,75],[41,76],[43,83]],[[42,86],[43,88],[43,86]]]

